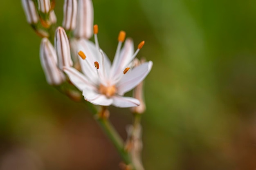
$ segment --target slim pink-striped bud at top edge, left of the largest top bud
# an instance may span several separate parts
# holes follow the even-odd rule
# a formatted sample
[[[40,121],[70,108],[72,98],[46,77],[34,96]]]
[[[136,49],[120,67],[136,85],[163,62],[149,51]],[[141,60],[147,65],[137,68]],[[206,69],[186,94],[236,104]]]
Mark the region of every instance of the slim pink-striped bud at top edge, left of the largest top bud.
[[[65,0],[63,14],[63,28],[73,30],[76,26],[77,0]]]

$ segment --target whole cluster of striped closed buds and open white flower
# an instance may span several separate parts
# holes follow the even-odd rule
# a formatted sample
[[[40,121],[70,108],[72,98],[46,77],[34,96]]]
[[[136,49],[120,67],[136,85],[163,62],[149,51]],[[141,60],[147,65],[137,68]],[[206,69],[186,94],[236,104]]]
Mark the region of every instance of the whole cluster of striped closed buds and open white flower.
[[[124,94],[141,84],[152,68],[151,61],[136,64],[138,60],[135,57],[144,41],[139,43],[135,51],[133,41],[126,39],[126,33],[120,31],[111,64],[99,46],[99,30],[97,25],[93,26],[91,0],[65,0],[62,27],[58,27],[54,35],[49,31],[56,23],[54,0],[22,0],[22,5],[27,22],[38,35],[44,37],[40,46],[40,60],[49,84],[61,85],[69,79],[82,91],[85,100],[95,105],[140,105],[142,97],[135,99],[124,97]],[[66,31],[71,36],[68,37]],[[89,41],[93,34],[95,44]],[[54,46],[51,37],[54,37]],[[137,96],[141,96],[140,86],[137,86],[140,89]],[[144,108],[144,104],[142,106]]]

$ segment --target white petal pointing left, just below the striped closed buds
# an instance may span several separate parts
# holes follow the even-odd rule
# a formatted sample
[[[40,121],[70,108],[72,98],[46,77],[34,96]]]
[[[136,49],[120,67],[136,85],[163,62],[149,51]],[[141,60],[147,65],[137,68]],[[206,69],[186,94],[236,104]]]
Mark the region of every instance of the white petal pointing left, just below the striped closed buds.
[[[63,71],[68,75],[70,81],[80,90],[83,89],[96,89],[92,84],[88,81],[88,79],[75,68],[72,67],[64,67]]]

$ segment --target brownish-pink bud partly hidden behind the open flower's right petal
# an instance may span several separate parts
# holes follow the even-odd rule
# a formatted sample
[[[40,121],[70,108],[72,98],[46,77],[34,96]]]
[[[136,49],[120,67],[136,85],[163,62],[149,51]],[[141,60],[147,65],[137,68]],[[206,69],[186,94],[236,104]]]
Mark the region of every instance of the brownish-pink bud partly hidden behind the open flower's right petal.
[[[134,59],[133,61],[133,65],[136,67],[136,66],[139,66],[140,64],[146,62],[145,60],[141,60],[139,61],[137,58]],[[143,93],[143,81],[141,83],[139,83],[133,90],[133,97],[135,99],[138,99],[139,102],[140,102],[140,105],[137,106],[137,107],[132,107],[131,108],[131,111],[133,113],[139,113],[139,114],[142,114],[145,112],[146,110],[146,104],[144,102],[144,93]]]

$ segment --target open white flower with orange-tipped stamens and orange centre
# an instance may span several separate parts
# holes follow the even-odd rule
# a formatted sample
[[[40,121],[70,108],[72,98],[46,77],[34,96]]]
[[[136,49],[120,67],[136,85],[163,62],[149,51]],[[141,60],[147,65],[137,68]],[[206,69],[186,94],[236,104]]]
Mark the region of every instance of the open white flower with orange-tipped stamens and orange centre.
[[[106,54],[99,48],[97,33],[98,27],[94,26],[96,44],[85,39],[78,41],[79,61],[83,74],[68,66],[64,66],[63,70],[70,81],[80,91],[83,91],[85,100],[92,104],[117,107],[139,106],[138,99],[123,95],[137,86],[152,68],[153,62],[151,61],[130,68],[132,60],[144,45],[144,41],[139,44],[135,53],[131,39],[127,39],[121,49],[121,44],[125,39],[125,32],[121,31],[117,52],[111,65]]]

